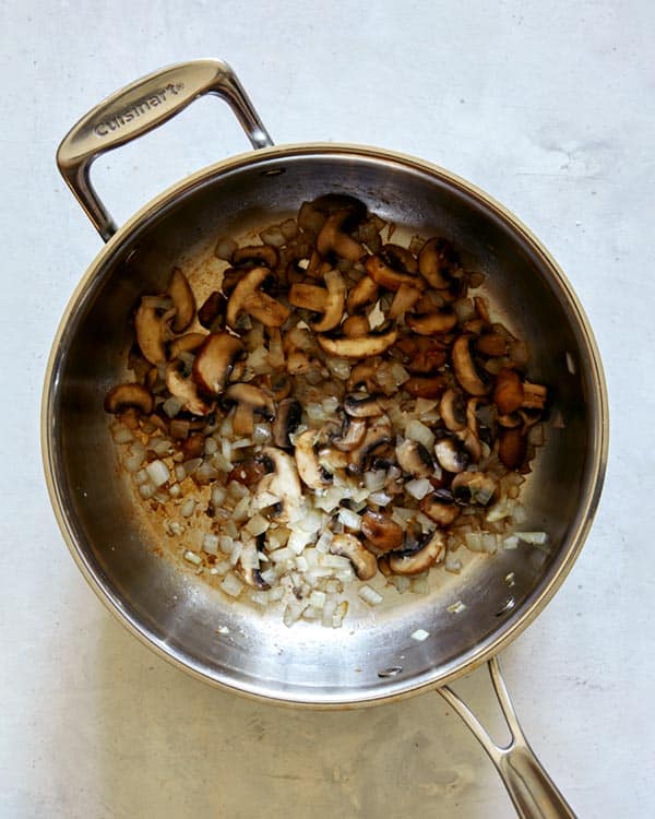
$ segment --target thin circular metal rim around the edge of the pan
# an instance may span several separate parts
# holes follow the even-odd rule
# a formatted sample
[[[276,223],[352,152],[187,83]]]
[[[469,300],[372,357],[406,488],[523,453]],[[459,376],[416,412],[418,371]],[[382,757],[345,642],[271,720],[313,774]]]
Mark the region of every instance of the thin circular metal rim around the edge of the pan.
[[[239,680],[238,682],[234,680],[230,681],[229,675],[223,675],[223,677],[218,679],[171,654],[163,646],[163,644],[159,644],[144,627],[140,626],[135,618],[130,617],[121,607],[120,601],[117,596],[105,586],[102,579],[91,566],[90,560],[85,557],[83,544],[78,542],[78,538],[69,524],[61,487],[56,479],[56,451],[51,427],[58,387],[56,373],[66,331],[70,324],[71,317],[75,313],[85,295],[88,293],[98,271],[104,269],[106,264],[110,263],[112,256],[120,252],[123,244],[133,235],[133,233],[147,225],[147,223],[159,214],[163,209],[172,205],[176,201],[186,195],[192,194],[193,190],[202,187],[217,176],[229,171],[237,171],[246,167],[252,167],[253,165],[269,162],[271,159],[312,156],[313,158],[319,158],[320,156],[342,156],[344,158],[353,156],[359,159],[377,159],[390,162],[396,165],[400,164],[405,168],[414,169],[428,174],[433,178],[438,178],[456,190],[473,197],[474,200],[490,210],[501,222],[503,222],[514,234],[531,247],[539,258],[541,266],[548,269],[555,284],[559,288],[563,299],[567,301],[571,314],[574,317],[576,330],[580,333],[581,342],[584,343],[586,348],[585,352],[591,365],[587,372],[590,404],[595,411],[591,413],[592,417],[590,419],[590,438],[594,441],[595,446],[593,452],[588,453],[588,463],[585,467],[585,474],[588,476],[587,480],[590,488],[577,509],[577,523],[569,533],[568,545],[558,556],[551,575],[531,594],[532,600],[526,602],[521,615],[514,620],[507,620],[499,624],[499,628],[493,630],[485,640],[480,641],[473,653],[468,652],[464,660],[458,658],[456,662],[449,663],[445,668],[439,666],[438,668],[431,668],[429,672],[419,676],[389,680],[384,688],[370,690],[348,689],[344,695],[340,696],[335,696],[332,692],[319,695],[315,691],[308,691],[307,695],[303,693],[302,696],[295,696],[293,692],[290,695],[282,692],[275,693],[262,685],[250,684],[249,680]],[[106,608],[123,626],[126,626],[126,628],[128,628],[128,630],[134,634],[140,642],[190,676],[201,679],[214,687],[222,688],[223,690],[228,690],[250,699],[269,703],[291,707],[302,705],[325,710],[382,704],[393,700],[407,698],[429,689],[442,687],[457,677],[469,673],[475,667],[489,660],[502,648],[509,645],[531,622],[534,621],[555,596],[556,592],[569,574],[593,524],[607,467],[609,413],[607,387],[600,355],[582,305],[564,272],[550,252],[509,209],[474,183],[452,174],[443,167],[414,156],[368,145],[308,142],[275,145],[273,147],[260,149],[254,152],[249,151],[218,163],[214,163],[213,165],[186,177],[183,180],[170,186],[147,202],[117,230],[103,248],[100,248],[95,259],[86,269],[78,286],[74,288],[55,335],[44,382],[40,440],[46,485],[63,539],[75,560],[75,563],[95,594],[99,597]]]

